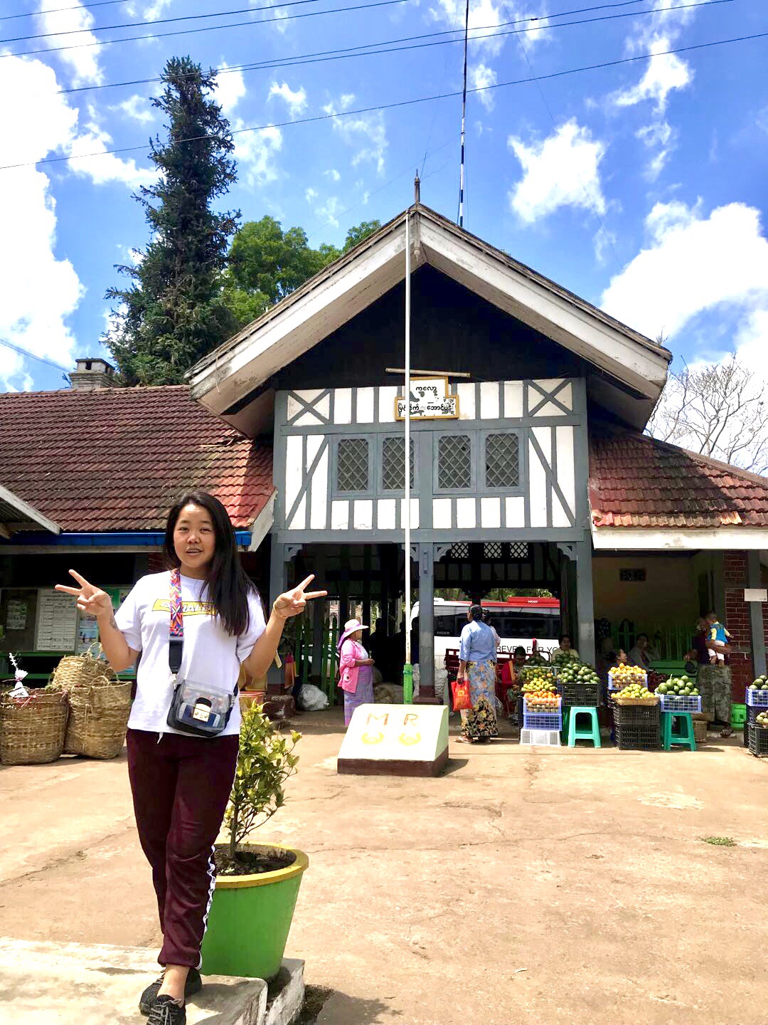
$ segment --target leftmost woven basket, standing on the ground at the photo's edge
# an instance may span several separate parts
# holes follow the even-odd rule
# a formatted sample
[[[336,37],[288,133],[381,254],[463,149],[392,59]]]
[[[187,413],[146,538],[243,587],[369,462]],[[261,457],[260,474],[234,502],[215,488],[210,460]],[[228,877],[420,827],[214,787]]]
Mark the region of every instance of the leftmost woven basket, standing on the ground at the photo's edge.
[[[0,762],[34,766],[55,762],[63,751],[68,695],[33,691],[28,698],[0,697]]]

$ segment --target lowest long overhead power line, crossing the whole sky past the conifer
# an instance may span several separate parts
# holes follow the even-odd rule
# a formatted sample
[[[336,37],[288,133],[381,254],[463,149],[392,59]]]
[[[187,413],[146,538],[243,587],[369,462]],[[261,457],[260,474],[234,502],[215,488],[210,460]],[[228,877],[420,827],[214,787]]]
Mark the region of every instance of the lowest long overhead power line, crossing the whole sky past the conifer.
[[[673,53],[690,53],[693,50],[706,50],[713,46],[725,46],[730,43],[745,43],[745,42],[751,42],[752,40],[755,39],[765,39],[766,37],[768,37],[768,31],[755,32],[749,36],[734,36],[730,39],[714,39],[708,43],[695,43],[691,46],[677,46],[669,50],[658,50],[655,53],[636,53],[630,57],[617,57],[614,60],[601,60],[599,64],[583,65],[580,68],[567,68],[564,69],[563,71],[550,72],[547,75],[535,75],[529,78],[511,79],[508,82],[497,82],[494,85],[477,86],[472,89],[467,89],[467,93],[487,92],[492,89],[504,89],[512,85],[525,85],[529,82],[545,82],[549,79],[563,78],[566,75],[578,75],[583,72],[598,71],[603,68],[616,68],[621,65],[635,64],[636,61],[639,60],[650,60],[652,57],[670,56]],[[391,104],[378,104],[373,107],[359,107],[356,108],[355,110],[339,111],[336,114],[316,114],[313,117],[309,118],[298,118],[296,121],[279,121],[265,125],[251,125],[247,128],[234,129],[232,130],[231,134],[242,135],[252,131],[265,131],[267,128],[288,128],[293,125],[313,124],[319,121],[330,121],[333,118],[351,117],[358,114],[372,114],[375,111],[396,110],[401,107],[413,107],[416,106],[417,104],[434,102],[435,100],[439,99],[454,99],[457,96],[461,96],[461,94],[462,90],[460,89],[458,91],[453,91],[453,92],[437,93],[436,95],[432,96],[416,96],[412,99],[399,99]],[[190,135],[187,138],[176,139],[176,141],[197,142],[209,137],[211,136]],[[17,164],[5,164],[3,166],[0,166],[0,171],[9,171],[17,167],[40,167],[44,164],[60,164],[60,163],[66,163],[67,161],[70,160],[86,160],[92,157],[106,157],[112,154],[146,152],[148,149],[150,149],[148,146],[125,146],[125,147],[119,147],[118,149],[115,150],[103,150],[99,153],[79,153],[75,156],[70,156],[70,157],[46,157],[44,160],[31,160]]]

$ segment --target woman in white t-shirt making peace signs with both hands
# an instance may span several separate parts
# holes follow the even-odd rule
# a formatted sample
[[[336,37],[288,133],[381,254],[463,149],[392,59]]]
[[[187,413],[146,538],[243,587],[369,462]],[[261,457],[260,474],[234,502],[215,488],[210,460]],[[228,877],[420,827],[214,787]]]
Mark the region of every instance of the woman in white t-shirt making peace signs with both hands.
[[[142,577],[115,614],[109,594],[74,570],[79,586],[56,589],[96,617],[101,647],[116,671],[141,655],[128,721],[128,773],[158,898],[163,932],[158,960],[164,971],[141,994],[139,1007],[150,1025],[185,1025],[185,997],[202,985],[200,947],[215,881],[213,845],[238,760],[241,666],[250,676],[263,676],[286,620],[326,591],[307,592],[312,580],[307,577],[274,601],[265,623],[226,509],[203,491],[184,495],[169,512],[163,551],[169,570]],[[169,659],[178,656],[179,645],[171,656],[169,638],[174,612],[178,633],[179,611],[181,661],[172,674]],[[229,717],[216,736],[188,735],[168,725],[176,674],[178,682],[232,695]]]

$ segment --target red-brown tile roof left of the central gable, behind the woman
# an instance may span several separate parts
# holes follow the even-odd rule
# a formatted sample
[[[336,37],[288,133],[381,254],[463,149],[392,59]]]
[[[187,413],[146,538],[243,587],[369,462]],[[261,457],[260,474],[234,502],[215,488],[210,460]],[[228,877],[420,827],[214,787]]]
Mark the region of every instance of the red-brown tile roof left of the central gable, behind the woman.
[[[185,385],[0,395],[0,483],[65,531],[159,530],[187,488],[248,528],[272,493],[272,449]]]

